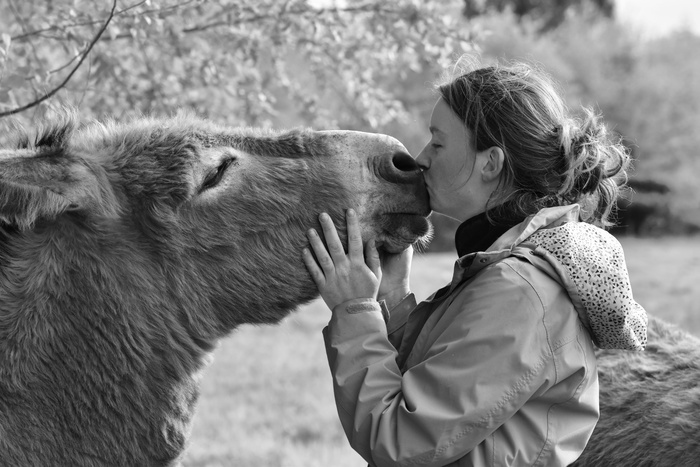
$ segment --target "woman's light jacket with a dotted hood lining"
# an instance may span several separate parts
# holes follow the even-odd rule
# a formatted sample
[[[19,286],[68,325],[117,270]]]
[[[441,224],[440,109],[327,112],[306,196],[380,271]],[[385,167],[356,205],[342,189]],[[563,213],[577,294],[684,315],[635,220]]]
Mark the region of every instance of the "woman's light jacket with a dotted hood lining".
[[[485,252],[459,258],[451,283],[388,312],[338,305],[324,329],[338,414],[376,467],[564,466],[598,420],[594,344],[643,349],[619,243],[549,208]]]

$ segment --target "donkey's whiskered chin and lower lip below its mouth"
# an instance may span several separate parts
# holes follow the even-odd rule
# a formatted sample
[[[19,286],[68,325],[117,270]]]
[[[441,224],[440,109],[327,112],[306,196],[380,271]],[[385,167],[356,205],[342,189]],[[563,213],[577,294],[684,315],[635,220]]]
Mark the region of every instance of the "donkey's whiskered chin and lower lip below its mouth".
[[[411,245],[422,251],[433,237],[433,225],[420,214],[387,214],[381,224],[383,233],[377,247],[387,253],[401,253]]]

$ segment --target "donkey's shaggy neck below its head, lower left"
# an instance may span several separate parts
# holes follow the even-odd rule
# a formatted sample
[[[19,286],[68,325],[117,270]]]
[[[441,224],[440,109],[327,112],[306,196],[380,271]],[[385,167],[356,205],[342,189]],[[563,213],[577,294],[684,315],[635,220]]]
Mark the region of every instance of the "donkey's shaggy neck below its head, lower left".
[[[7,329],[32,338],[2,330],[3,371],[12,372],[3,381],[15,383],[18,402],[1,428],[39,410],[58,431],[27,438],[56,452],[99,446],[89,454],[117,465],[175,462],[214,342],[183,319],[187,303],[169,293],[163,269],[119,238],[25,235],[10,249],[24,253],[4,252],[2,294],[19,297],[5,300],[16,320]]]

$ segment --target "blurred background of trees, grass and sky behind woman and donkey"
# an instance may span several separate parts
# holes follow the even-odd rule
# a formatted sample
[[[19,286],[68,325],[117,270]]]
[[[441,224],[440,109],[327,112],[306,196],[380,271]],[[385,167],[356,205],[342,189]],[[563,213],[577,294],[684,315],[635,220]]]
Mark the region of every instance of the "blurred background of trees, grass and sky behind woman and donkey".
[[[388,133],[417,155],[434,85],[462,54],[535,63],[634,157],[613,233],[635,298],[700,335],[700,3],[695,0],[3,0],[0,143],[82,118],[191,108],[234,126]],[[456,225],[414,259],[450,280]],[[242,327],[204,378],[186,466],[363,466],[335,414],[314,302]]]

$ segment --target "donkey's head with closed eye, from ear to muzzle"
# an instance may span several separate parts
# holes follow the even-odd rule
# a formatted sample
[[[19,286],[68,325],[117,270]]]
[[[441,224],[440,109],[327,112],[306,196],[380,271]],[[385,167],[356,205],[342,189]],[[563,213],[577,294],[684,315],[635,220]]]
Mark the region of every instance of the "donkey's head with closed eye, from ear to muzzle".
[[[316,296],[301,249],[320,212],[344,236],[355,208],[363,237],[391,252],[429,231],[420,170],[385,135],[226,128],[184,114],[74,126],[49,122],[0,152],[5,235],[49,233],[75,251],[110,237],[154,264],[170,295],[213,311],[217,333]]]

